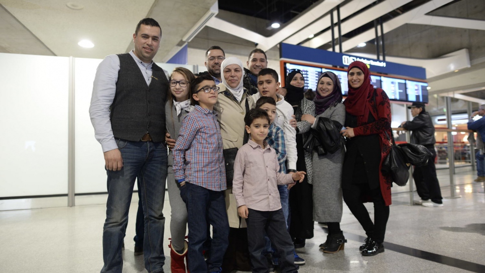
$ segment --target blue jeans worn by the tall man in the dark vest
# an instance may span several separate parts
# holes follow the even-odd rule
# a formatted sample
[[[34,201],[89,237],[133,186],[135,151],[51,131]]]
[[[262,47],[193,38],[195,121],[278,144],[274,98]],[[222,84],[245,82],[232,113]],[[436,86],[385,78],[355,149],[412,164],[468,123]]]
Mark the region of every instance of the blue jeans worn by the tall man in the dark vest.
[[[121,273],[123,268],[122,244],[128,224],[128,210],[137,176],[140,178],[141,199],[145,215],[143,253],[145,268],[150,273],[162,272],[163,232],[165,217],[163,202],[167,177],[167,148],[152,141],[116,139],[123,157],[123,168],[106,170],[108,200],[103,227],[103,261],[101,273]]]

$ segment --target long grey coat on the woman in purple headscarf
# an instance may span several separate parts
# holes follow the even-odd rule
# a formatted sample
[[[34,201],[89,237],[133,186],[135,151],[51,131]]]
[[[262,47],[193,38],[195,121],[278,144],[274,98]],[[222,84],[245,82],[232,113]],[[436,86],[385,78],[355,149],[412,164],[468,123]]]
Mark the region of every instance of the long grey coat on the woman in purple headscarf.
[[[317,115],[345,123],[345,106],[339,103]],[[345,148],[334,154],[313,152],[313,220],[340,222],[342,220],[342,165]]]

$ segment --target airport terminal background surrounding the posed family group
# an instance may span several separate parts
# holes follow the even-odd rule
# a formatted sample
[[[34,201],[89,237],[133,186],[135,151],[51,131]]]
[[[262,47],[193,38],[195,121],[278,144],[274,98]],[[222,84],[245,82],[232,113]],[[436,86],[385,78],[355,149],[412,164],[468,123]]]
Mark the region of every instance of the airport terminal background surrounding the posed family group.
[[[314,237],[296,249],[305,259],[300,272],[485,272],[485,182],[475,181],[476,136],[467,130],[485,105],[483,0],[0,0],[0,272],[101,270],[107,191],[88,113],[92,82],[105,56],[133,50],[135,26],[146,17],[161,25],[153,60],[169,73],[206,71],[213,45],[245,66],[261,48],[280,81],[290,68],[306,71],[305,88],[316,84],[311,73],[334,69],[346,81],[345,64],[366,60],[391,98],[400,142],[410,139],[398,128],[413,118],[407,107],[426,103],[443,206],[416,205],[412,179],[394,185],[385,252],[362,256],[366,233],[344,204],[344,249],[319,250],[328,228],[315,222]],[[315,55],[289,52],[300,50]],[[340,63],[327,61],[330,54]],[[390,72],[395,64],[411,72]],[[134,255],[137,190],[126,273],[147,272],[143,255]],[[167,192],[164,200],[170,272]],[[366,207],[373,218],[372,203]]]

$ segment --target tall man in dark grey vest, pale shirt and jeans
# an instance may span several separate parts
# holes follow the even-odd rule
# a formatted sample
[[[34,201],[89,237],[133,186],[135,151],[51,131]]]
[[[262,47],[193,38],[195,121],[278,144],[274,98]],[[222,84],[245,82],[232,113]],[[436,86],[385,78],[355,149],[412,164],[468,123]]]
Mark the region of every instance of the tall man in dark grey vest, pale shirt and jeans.
[[[108,191],[101,273],[122,272],[123,238],[137,176],[145,215],[145,268],[163,272],[163,140],[169,84],[166,71],[152,61],[161,38],[157,21],[145,18],[133,34],[135,50],[105,57],[96,70],[89,114],[104,153]]]

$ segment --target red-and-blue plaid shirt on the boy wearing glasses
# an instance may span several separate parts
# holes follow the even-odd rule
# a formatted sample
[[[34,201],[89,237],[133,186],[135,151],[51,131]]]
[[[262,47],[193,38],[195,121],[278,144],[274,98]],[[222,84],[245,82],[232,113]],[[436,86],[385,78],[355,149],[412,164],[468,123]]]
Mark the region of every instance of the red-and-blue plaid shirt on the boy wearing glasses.
[[[173,149],[175,179],[211,191],[227,188],[217,114],[198,105],[182,121]]]

